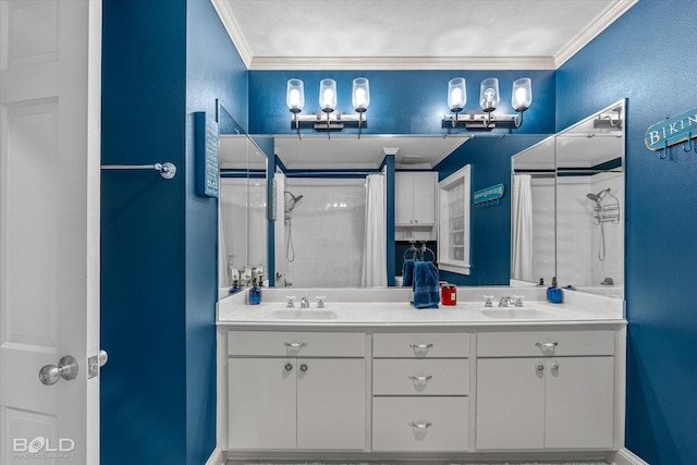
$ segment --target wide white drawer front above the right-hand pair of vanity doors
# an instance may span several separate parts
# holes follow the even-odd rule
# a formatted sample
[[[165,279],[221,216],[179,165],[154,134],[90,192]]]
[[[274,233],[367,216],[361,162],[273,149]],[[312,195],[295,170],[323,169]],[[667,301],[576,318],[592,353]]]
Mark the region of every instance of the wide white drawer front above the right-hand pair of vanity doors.
[[[477,334],[478,357],[614,355],[614,331],[489,332]]]

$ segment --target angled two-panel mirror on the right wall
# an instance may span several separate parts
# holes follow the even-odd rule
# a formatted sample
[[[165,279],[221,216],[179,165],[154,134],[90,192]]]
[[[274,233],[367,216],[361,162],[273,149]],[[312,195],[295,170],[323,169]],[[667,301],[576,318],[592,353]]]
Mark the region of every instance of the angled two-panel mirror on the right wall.
[[[623,297],[624,105],[513,157],[512,282]]]

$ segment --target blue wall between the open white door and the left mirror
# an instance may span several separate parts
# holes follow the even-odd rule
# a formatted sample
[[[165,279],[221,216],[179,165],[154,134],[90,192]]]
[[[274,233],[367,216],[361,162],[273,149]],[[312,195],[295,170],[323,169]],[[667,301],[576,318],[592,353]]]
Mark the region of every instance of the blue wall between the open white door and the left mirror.
[[[247,124],[247,73],[212,4],[105,0],[101,463],[206,462],[216,433],[217,200],[195,195],[193,112]]]

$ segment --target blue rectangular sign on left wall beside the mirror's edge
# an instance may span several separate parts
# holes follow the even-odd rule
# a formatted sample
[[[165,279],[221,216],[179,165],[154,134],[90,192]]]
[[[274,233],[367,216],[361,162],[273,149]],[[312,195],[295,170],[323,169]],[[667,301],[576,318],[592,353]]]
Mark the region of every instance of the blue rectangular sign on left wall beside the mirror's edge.
[[[206,113],[194,113],[196,144],[196,194],[203,197],[218,197],[219,147],[218,123]]]

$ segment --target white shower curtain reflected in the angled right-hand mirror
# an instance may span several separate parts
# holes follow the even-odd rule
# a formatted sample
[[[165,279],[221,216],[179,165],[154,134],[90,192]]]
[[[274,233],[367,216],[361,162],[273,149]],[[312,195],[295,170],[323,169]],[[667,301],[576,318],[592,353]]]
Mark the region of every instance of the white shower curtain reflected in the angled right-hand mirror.
[[[513,279],[534,281],[533,277],[533,191],[529,174],[513,176],[513,250],[511,274]]]

